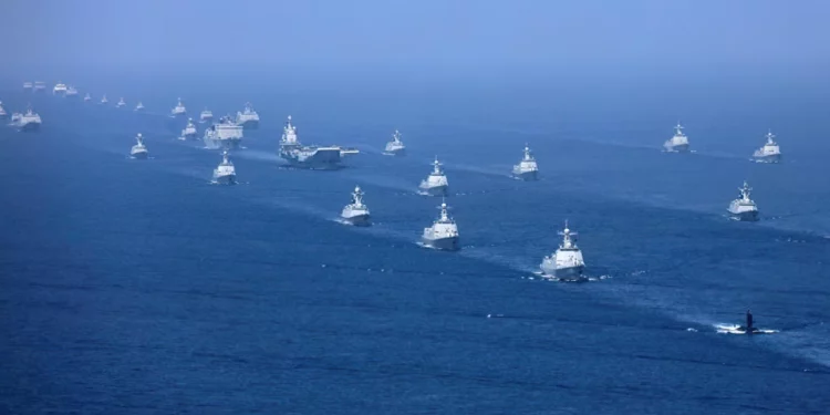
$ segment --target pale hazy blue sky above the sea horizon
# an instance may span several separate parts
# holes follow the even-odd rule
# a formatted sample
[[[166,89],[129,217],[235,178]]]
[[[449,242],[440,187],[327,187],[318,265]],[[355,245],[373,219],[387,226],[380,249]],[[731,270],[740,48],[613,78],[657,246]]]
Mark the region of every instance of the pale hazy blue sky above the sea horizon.
[[[7,69],[819,73],[828,18],[821,0],[6,0],[0,38]]]

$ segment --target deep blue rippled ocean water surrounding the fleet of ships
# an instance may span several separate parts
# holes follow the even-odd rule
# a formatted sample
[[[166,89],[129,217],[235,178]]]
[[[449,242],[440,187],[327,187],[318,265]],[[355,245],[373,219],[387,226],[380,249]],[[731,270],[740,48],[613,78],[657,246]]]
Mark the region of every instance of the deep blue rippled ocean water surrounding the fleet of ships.
[[[0,95],[10,113],[31,102],[44,120],[33,134],[0,128],[2,413],[830,407],[830,144],[818,94],[688,91],[670,107],[672,94],[656,92],[125,84],[105,85],[108,107],[14,85]],[[112,107],[120,94],[127,108]],[[167,114],[179,95],[193,115],[253,102],[261,128],[231,154],[240,185],[210,185],[218,153],[175,139],[184,123]],[[146,114],[132,112],[137,98]],[[695,154],[660,152],[677,113]],[[286,168],[276,148],[288,114],[301,141],[363,153],[338,172]],[[394,128],[405,158],[380,155]],[[748,162],[767,128],[786,163]],[[152,159],[127,157],[138,132]],[[537,183],[507,176],[525,143]],[[438,199],[415,194],[435,155],[459,252],[416,243],[438,212]],[[744,179],[760,222],[724,217]],[[355,185],[371,228],[336,221]],[[564,220],[591,282],[535,273]],[[715,332],[748,308],[780,332]]]

